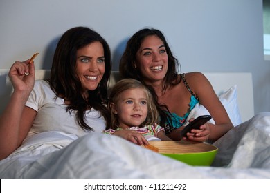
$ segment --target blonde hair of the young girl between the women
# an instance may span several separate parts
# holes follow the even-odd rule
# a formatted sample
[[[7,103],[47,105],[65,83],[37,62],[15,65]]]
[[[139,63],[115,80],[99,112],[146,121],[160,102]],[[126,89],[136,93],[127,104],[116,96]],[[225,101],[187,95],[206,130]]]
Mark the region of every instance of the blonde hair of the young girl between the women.
[[[135,79],[122,79],[118,81],[114,87],[111,89],[111,93],[109,94],[109,111],[111,113],[111,125],[109,128],[116,129],[118,128],[118,115],[114,114],[113,110],[111,109],[111,103],[117,105],[118,100],[120,98],[120,94],[125,90],[133,89],[133,88],[141,88],[145,91],[146,94],[146,101],[147,101],[147,117],[141,126],[145,125],[152,125],[159,121],[159,112],[156,108],[154,103],[154,97],[152,96],[150,90],[147,88],[146,85],[141,83],[141,81],[137,81]]]

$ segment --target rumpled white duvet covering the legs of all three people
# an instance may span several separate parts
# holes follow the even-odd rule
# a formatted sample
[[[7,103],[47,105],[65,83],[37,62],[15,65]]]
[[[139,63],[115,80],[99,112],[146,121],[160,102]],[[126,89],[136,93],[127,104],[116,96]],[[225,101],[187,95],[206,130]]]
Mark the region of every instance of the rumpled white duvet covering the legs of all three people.
[[[116,136],[47,132],[0,161],[1,179],[270,179],[270,112],[214,143],[211,167],[195,167]]]

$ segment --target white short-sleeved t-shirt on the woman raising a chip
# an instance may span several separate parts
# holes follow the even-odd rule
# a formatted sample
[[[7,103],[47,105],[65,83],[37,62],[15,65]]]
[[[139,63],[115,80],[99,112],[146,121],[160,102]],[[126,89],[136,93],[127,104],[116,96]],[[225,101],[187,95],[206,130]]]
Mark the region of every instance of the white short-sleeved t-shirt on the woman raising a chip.
[[[67,134],[83,136],[89,130],[80,128],[75,112],[66,112],[64,99],[55,98],[55,93],[51,90],[48,82],[44,80],[35,81],[33,91],[30,93],[26,106],[37,111],[37,116],[30,129],[30,135],[40,132],[58,131]],[[94,132],[101,133],[106,127],[106,121],[99,111],[88,110],[86,112],[87,124],[94,129]]]

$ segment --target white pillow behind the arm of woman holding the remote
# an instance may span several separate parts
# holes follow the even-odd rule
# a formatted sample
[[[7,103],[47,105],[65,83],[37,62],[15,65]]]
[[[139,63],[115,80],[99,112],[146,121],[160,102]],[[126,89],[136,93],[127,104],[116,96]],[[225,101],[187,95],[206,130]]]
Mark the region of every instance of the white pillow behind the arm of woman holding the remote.
[[[219,100],[222,102],[222,105],[224,105],[224,108],[226,109],[226,112],[228,113],[228,116],[230,117],[233,125],[236,126],[242,123],[240,111],[237,105],[237,85],[234,85],[226,92],[222,93],[219,96]],[[206,110],[206,108],[203,105],[197,104],[188,115],[187,120],[189,120],[190,118],[197,118],[198,116],[204,114],[210,115],[208,110]],[[210,119],[208,123],[215,124],[215,121],[213,119]],[[188,125],[188,121],[186,121],[184,125]]]

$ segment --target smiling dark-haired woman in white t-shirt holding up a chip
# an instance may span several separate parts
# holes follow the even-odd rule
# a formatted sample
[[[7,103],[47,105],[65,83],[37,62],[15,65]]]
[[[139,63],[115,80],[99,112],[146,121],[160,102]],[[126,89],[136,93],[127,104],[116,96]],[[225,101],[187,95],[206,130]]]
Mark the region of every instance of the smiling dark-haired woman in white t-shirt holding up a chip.
[[[35,66],[29,61],[16,61],[10,68],[14,92],[0,118],[0,159],[28,136],[100,133],[109,120],[111,54],[100,34],[84,27],[66,31],[57,43],[49,81],[35,81]]]

